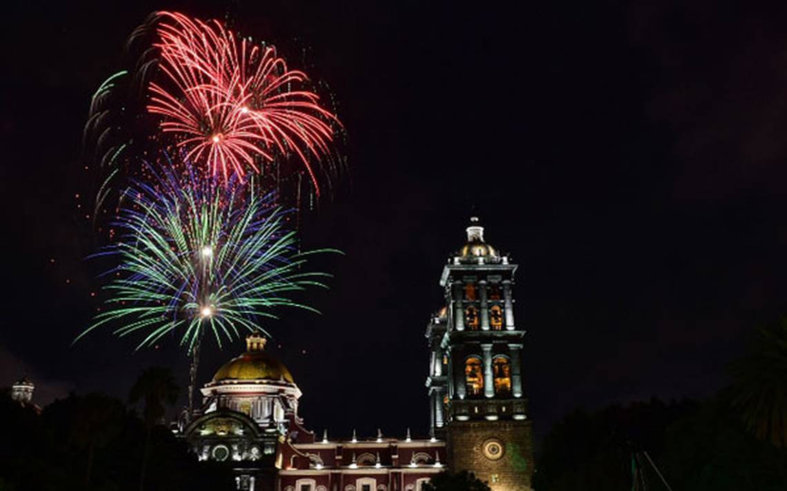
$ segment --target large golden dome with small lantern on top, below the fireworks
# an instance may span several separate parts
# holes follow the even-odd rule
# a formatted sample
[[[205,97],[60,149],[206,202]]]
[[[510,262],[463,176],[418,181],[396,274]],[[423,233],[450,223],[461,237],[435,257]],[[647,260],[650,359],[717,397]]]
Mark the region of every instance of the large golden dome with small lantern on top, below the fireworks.
[[[235,357],[219,368],[213,383],[233,380],[284,380],[295,383],[290,370],[274,357],[264,353],[266,339],[255,333],[246,336],[246,353]]]

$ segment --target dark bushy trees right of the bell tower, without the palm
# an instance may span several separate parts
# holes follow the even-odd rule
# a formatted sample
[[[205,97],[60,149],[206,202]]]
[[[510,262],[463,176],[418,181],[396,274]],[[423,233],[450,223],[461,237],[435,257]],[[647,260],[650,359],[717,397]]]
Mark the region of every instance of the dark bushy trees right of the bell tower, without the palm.
[[[578,410],[547,434],[534,487],[631,489],[632,456],[644,452],[672,489],[787,489],[787,452],[748,434],[721,398]],[[641,465],[648,489],[666,490],[652,467]]]

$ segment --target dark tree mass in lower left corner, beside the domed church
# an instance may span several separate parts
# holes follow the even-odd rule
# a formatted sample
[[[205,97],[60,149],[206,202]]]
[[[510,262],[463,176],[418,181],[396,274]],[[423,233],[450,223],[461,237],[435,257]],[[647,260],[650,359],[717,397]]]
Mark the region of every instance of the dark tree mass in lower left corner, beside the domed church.
[[[72,394],[39,415],[2,397],[0,418],[0,489],[138,489],[146,425],[121,401]],[[166,427],[151,429],[149,452],[146,490],[223,489],[231,482],[226,471],[198,463]]]

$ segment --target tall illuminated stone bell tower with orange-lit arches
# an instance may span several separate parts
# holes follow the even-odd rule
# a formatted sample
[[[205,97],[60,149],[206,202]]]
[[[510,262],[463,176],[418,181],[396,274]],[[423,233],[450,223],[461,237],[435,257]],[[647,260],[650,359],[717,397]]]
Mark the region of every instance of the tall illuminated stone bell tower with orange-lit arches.
[[[529,490],[533,436],[522,384],[525,330],[514,320],[516,265],[487,244],[478,218],[442,271],[446,309],[427,328],[432,430],[452,471],[494,491]]]

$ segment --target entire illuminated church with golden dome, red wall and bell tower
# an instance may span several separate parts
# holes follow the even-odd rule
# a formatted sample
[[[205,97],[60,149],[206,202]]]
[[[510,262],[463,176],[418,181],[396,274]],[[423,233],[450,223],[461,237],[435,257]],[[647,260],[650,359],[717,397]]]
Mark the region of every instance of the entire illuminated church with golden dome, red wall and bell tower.
[[[201,389],[201,408],[179,424],[198,460],[231,466],[249,491],[421,491],[445,471],[472,471],[493,491],[529,491],[533,438],[521,371],[523,328],[514,320],[516,265],[487,244],[473,218],[467,243],[440,284],[445,307],[427,325],[428,438],[329,438],[298,416],[301,390],[266,339]]]

